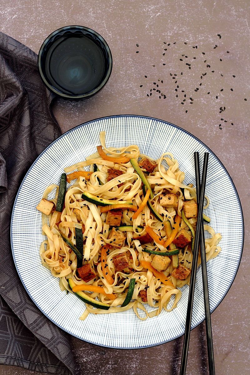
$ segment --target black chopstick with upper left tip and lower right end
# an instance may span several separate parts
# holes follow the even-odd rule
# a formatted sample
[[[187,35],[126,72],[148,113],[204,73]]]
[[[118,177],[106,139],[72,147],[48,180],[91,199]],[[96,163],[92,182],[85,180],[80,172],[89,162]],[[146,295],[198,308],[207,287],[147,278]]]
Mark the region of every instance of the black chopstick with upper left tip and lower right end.
[[[198,152],[195,152],[195,179],[196,179],[196,195],[197,195],[198,208],[203,210],[203,201],[201,201],[201,204],[200,204],[200,200],[199,200],[201,180],[200,180],[200,162],[199,162],[199,153]],[[204,306],[205,306],[207,350],[208,350],[208,368],[209,368],[209,374],[215,375],[213,335],[212,335],[212,325],[211,325],[211,315],[210,315],[207,261],[206,261],[204,226],[203,225],[201,226],[200,246],[201,246],[201,270],[202,270],[202,284],[203,284]]]

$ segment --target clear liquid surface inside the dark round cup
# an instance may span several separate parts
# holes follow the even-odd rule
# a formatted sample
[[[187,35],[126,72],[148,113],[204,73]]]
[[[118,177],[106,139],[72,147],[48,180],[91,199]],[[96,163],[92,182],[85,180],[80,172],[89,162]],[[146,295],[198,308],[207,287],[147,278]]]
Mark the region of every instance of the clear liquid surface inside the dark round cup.
[[[60,92],[87,94],[100,85],[106,74],[104,54],[100,43],[91,37],[64,34],[48,46],[43,71]]]

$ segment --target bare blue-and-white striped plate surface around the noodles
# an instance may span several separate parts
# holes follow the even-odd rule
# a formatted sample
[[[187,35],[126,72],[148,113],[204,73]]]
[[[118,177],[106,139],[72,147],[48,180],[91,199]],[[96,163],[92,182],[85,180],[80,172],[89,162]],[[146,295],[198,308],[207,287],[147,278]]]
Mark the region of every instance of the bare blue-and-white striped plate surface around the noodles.
[[[199,151],[201,162],[204,152],[210,153],[206,194],[211,203],[205,213],[211,218],[215,232],[222,234],[222,251],[208,262],[211,311],[228,292],[240,264],[244,237],[241,205],[228,172],[214,153],[190,133],[156,118],[135,115],[105,117],[79,125],[61,135],[37,157],[22,181],[13,207],[11,243],[16,269],[38,308],[71,335],[111,348],[162,344],[184,333],[189,287],[182,288],[183,294],[176,309],[171,312],[163,310],[158,317],[146,321],[139,320],[132,309],[115,314],[89,314],[85,321],[80,321],[84,302],[60,291],[58,279],[52,277],[40,261],[39,247],[45,236],[42,236],[41,213],[36,210],[36,205],[49,184],[59,183],[64,167],[84,160],[96,151],[101,130],[106,131],[107,146],[138,144],[142,153],[155,159],[165,151],[173,153],[186,174],[186,183],[195,184],[193,153]],[[152,310],[145,306],[148,311]],[[192,328],[204,318],[199,267]]]

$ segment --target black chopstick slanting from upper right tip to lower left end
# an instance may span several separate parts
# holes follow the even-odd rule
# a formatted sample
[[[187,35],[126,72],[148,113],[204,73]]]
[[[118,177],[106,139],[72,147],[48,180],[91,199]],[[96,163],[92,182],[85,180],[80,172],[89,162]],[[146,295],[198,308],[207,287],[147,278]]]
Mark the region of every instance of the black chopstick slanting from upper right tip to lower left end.
[[[202,180],[201,180],[201,191],[199,196],[199,202],[204,201],[205,196],[205,185],[207,179],[207,167],[208,167],[208,153],[204,153],[203,169],[202,169]],[[199,254],[199,234],[201,232],[201,226],[203,225],[203,210],[198,211],[198,218],[196,224],[196,236],[195,236],[195,245],[193,250],[193,262],[190,275],[190,287],[189,287],[189,298],[187,302],[187,317],[186,317],[186,326],[183,340],[183,350],[181,356],[181,368],[180,375],[186,374],[187,367],[187,355],[189,350],[189,339],[190,339],[190,329],[192,321],[192,311],[193,311],[193,298],[195,293],[195,279],[196,279],[196,270]]]

